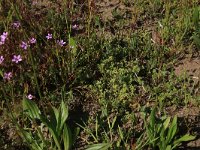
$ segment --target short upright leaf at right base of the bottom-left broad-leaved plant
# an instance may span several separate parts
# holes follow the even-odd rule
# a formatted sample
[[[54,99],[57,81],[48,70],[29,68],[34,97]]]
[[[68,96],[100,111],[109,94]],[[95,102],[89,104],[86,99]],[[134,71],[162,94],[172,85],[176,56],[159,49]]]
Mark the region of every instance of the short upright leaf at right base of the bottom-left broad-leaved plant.
[[[64,124],[63,128],[63,141],[64,141],[64,150],[70,150],[73,145],[73,138],[70,128]]]

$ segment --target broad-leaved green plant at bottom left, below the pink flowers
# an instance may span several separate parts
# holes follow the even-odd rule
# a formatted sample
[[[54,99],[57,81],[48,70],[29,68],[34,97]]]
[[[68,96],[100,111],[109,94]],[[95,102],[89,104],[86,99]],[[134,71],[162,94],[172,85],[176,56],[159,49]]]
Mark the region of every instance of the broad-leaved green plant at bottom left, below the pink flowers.
[[[79,132],[76,128],[72,133],[71,129],[66,123],[68,118],[68,108],[62,101],[59,109],[51,108],[50,116],[47,117],[42,114],[35,102],[31,100],[23,100],[24,114],[32,122],[35,128],[21,128],[20,135],[29,145],[32,150],[70,150]],[[37,125],[37,122],[41,122]],[[47,129],[50,136],[45,136],[44,129]],[[33,130],[33,131],[32,131]]]

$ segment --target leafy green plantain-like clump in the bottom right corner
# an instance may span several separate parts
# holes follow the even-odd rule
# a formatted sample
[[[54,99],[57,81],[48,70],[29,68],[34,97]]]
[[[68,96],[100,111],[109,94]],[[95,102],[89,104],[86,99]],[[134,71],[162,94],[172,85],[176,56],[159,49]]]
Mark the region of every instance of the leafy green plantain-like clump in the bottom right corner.
[[[147,121],[147,119],[149,119]],[[172,120],[172,121],[171,121]],[[185,134],[178,137],[177,116],[171,117],[162,116],[160,119],[156,117],[156,108],[150,113],[149,118],[144,118],[146,145],[153,149],[172,150],[181,145],[182,142],[194,140],[196,137]]]

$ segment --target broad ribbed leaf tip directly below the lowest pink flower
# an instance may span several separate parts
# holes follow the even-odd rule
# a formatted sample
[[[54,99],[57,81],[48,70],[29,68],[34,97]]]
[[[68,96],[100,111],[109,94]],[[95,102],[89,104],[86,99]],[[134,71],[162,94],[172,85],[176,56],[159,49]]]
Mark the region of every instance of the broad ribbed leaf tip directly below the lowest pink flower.
[[[23,99],[23,110],[32,119],[40,119],[40,110],[32,100]]]

